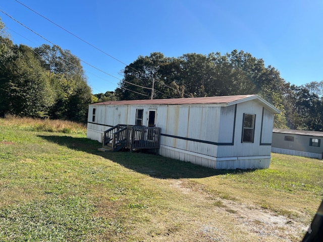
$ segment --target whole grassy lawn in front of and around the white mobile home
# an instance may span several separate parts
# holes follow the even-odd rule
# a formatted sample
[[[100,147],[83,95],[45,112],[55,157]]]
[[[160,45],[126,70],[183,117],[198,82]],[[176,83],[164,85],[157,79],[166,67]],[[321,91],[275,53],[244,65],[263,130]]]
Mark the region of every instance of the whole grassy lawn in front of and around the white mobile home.
[[[100,152],[82,125],[0,119],[0,241],[300,241],[323,162],[258,170]]]

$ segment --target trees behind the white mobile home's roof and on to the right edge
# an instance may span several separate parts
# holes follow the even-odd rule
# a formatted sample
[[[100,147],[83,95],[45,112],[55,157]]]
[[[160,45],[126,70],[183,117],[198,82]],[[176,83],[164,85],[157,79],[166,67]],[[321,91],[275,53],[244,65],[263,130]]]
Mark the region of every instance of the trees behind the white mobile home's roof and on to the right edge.
[[[120,100],[258,94],[276,106],[275,128],[323,131],[323,81],[296,86],[243,50],[207,55],[139,56],[123,71],[115,90]],[[145,87],[145,88],[143,88]]]

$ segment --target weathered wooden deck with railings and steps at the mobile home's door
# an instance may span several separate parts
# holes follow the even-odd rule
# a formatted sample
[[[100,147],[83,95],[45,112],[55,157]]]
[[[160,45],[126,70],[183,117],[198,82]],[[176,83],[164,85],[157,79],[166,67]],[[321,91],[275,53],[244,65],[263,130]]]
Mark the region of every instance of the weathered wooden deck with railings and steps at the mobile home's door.
[[[117,125],[104,131],[102,145],[111,151],[122,148],[159,149],[160,128]]]

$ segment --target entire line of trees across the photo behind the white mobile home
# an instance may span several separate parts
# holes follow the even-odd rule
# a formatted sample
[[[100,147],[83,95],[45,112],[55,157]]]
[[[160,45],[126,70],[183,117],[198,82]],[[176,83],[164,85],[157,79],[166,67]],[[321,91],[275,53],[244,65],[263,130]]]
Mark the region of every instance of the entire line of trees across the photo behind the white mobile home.
[[[86,122],[88,104],[108,100],[258,94],[275,105],[275,128],[323,131],[323,81],[296,86],[243,50],[167,57],[153,52],[123,70],[114,91],[92,94],[80,59],[60,46],[14,44],[0,20],[0,116]]]

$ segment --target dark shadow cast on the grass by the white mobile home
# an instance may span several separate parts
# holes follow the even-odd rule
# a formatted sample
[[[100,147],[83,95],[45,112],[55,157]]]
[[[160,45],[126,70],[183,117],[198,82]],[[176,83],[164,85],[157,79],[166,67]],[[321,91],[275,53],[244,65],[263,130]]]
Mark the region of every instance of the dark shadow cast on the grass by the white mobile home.
[[[235,174],[253,170],[216,170],[195,165],[190,162],[175,160],[160,155],[137,152],[101,152],[101,143],[87,138],[71,136],[38,136],[51,143],[66,146],[70,149],[84,151],[112,160],[126,168],[156,178],[202,178],[222,174]]]

